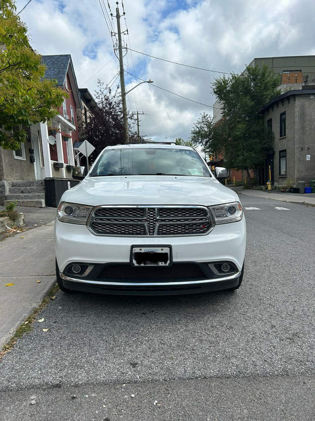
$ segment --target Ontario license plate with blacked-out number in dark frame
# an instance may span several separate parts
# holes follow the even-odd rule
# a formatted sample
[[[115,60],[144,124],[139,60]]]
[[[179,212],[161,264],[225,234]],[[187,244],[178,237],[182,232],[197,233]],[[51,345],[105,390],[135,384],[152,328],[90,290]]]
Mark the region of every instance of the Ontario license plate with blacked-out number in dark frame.
[[[132,247],[133,266],[169,266],[170,247]]]

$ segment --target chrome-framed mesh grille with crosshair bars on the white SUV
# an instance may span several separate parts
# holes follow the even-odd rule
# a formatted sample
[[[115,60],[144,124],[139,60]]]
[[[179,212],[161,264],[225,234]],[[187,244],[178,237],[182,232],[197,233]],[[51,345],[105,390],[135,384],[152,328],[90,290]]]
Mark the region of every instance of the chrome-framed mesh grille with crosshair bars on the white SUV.
[[[203,206],[99,206],[88,221],[96,235],[204,235],[213,228]]]

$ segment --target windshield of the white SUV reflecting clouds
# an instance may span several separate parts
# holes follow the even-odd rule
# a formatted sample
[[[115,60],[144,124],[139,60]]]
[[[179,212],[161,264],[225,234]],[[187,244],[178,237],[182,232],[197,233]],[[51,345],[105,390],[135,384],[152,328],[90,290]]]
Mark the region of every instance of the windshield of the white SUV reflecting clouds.
[[[196,151],[171,148],[122,148],[103,151],[90,177],[113,175],[182,175],[211,177]]]

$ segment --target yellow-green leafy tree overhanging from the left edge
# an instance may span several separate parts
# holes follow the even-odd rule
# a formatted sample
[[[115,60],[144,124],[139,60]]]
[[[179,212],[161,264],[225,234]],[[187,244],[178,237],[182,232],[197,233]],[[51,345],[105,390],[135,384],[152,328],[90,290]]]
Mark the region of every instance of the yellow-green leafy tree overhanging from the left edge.
[[[22,124],[53,118],[67,97],[57,81],[44,78],[41,56],[15,12],[12,0],[0,0],[0,147],[11,150],[26,139]]]

